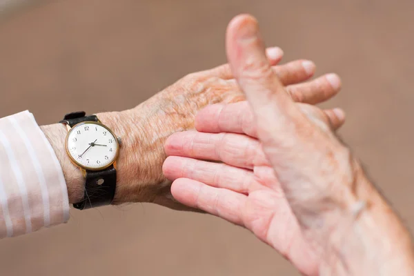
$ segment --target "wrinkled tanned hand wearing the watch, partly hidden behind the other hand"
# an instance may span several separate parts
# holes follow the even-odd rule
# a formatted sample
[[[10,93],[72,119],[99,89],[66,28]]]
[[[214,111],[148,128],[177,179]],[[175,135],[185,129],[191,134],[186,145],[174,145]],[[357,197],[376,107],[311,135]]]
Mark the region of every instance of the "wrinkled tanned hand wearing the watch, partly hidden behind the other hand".
[[[268,49],[270,64],[278,63],[281,58],[282,50]],[[315,72],[311,61],[292,61],[273,66],[272,70],[295,101],[319,103],[333,97],[339,90],[340,82],[336,75],[302,82]],[[171,182],[162,174],[166,158],[164,142],[174,132],[193,129],[195,114],[205,106],[244,99],[230,66],[226,64],[187,75],[136,108],[121,112],[116,120],[121,124],[111,125],[123,138],[126,151],[119,156],[115,204],[145,201],[182,210],[184,206],[170,193]],[[118,126],[124,129],[117,130]]]

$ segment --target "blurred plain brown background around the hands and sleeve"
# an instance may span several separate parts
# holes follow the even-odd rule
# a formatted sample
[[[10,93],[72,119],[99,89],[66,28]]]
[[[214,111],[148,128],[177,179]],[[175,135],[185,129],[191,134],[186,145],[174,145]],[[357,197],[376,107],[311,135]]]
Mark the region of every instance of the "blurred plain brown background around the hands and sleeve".
[[[0,116],[52,124],[73,110],[137,105],[226,62],[240,12],[284,61],[337,72],[341,134],[413,228],[414,1],[32,0],[0,18]],[[71,210],[67,225],[0,241],[1,275],[297,275],[248,231],[150,204]]]

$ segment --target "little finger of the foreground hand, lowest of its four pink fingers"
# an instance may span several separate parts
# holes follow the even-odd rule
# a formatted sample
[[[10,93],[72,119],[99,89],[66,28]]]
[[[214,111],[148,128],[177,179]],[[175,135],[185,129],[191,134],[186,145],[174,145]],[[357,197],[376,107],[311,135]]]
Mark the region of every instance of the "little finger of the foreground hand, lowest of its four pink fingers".
[[[244,226],[242,210],[246,204],[246,195],[184,178],[172,183],[171,193],[177,201],[186,206],[199,208],[233,224]]]

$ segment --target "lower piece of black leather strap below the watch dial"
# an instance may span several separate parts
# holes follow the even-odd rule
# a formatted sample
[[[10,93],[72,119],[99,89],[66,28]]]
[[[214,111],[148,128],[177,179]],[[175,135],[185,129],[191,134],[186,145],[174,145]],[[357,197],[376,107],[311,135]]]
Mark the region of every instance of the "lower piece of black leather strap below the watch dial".
[[[73,207],[83,210],[112,203],[117,184],[117,170],[110,166],[106,170],[86,171],[85,194],[82,201]]]

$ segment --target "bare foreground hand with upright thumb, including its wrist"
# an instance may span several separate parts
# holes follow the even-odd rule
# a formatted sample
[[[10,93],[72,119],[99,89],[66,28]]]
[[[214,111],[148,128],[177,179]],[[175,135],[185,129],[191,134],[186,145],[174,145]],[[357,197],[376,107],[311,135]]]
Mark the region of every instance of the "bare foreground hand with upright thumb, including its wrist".
[[[293,102],[252,17],[230,23],[227,52],[253,112],[211,106],[199,132],[168,139],[175,198],[246,226],[306,275],[410,275],[407,230],[335,136],[342,111]]]

